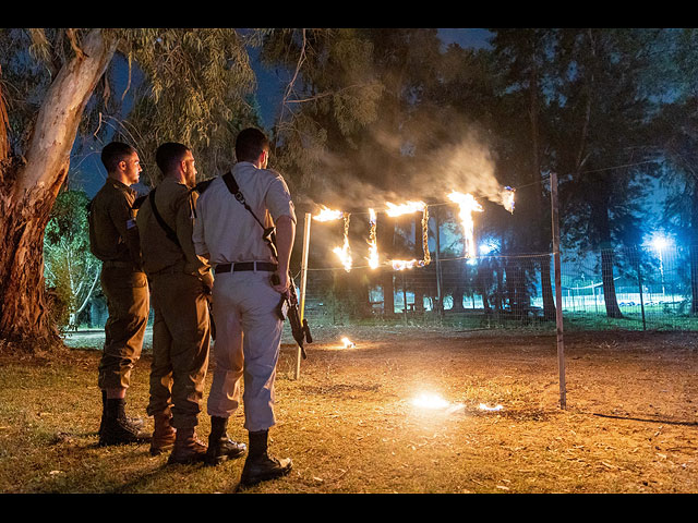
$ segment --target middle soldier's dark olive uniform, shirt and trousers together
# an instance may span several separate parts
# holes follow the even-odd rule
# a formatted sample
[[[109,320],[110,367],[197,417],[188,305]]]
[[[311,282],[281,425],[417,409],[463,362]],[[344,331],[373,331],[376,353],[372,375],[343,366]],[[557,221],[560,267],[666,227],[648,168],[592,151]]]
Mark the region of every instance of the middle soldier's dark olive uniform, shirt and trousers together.
[[[192,243],[198,193],[172,178],[165,178],[153,191],[155,207],[179,245],[158,222],[148,195],[136,218],[155,311],[146,411],[155,416],[171,410],[172,426],[185,429],[197,425],[204,394],[209,349],[204,285],[210,289],[213,277]]]

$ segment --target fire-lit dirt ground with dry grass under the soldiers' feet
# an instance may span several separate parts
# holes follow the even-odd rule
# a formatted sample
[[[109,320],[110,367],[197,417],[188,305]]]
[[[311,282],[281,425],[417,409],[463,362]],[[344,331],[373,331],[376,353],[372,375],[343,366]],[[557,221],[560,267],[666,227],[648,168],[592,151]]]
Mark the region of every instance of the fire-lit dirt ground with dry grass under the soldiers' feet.
[[[554,333],[352,328],[314,335],[299,379],[292,344],[282,345],[278,367],[272,452],[292,458],[293,470],[253,492],[698,491],[694,333],[566,333],[565,409]],[[341,336],[356,346],[345,349]],[[64,363],[1,362],[0,464],[13,472],[0,475],[0,491],[236,490],[241,460],[168,467],[166,457],[149,457],[147,445],[97,448],[98,356],[72,350]],[[148,364],[145,355],[134,374],[130,414],[145,415]],[[68,379],[61,377],[67,365]],[[17,373],[25,373],[22,384],[10,378]],[[46,374],[62,402],[38,399],[34,384]],[[447,404],[413,404],[422,393]],[[17,433],[20,417],[49,436]],[[231,418],[232,437],[244,438],[242,421],[242,413]],[[203,415],[202,437],[208,427]],[[25,441],[22,452],[8,446],[17,440]]]

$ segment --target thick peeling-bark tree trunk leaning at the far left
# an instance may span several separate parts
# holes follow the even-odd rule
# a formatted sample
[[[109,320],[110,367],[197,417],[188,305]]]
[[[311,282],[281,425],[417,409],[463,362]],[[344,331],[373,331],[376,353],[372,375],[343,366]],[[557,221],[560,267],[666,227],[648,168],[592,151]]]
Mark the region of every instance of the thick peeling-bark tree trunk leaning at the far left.
[[[0,165],[0,339],[59,342],[44,285],[44,232],[65,181],[85,105],[116,49],[93,29],[39,109],[25,160]]]

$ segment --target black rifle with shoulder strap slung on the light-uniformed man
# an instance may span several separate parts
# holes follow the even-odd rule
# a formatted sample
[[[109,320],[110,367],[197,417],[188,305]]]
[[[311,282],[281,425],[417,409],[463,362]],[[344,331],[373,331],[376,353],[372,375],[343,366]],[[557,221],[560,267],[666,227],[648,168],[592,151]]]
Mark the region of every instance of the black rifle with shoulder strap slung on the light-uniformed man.
[[[276,248],[276,228],[275,227],[265,228],[262,224],[262,222],[256,217],[254,211],[245,203],[244,196],[240,192],[240,187],[238,186],[238,183],[236,182],[236,179],[232,177],[232,173],[230,171],[228,171],[226,174],[222,175],[222,180],[226,183],[228,191],[230,191],[230,193],[234,195],[236,199],[240,202],[245,207],[245,209],[248,209],[248,211],[252,215],[254,220],[260,224],[260,227],[262,227],[262,229],[264,229],[262,239],[272,251],[272,256],[274,257],[274,259],[276,259],[276,262],[278,263],[279,255]],[[303,356],[303,360],[305,360],[308,355],[305,354],[304,343],[312,343],[313,338],[310,333],[310,327],[308,326],[308,320],[305,318],[301,320],[300,307],[298,304],[298,294],[296,293],[296,283],[293,282],[293,278],[291,277],[290,273],[288,275],[288,279],[290,283],[288,295],[286,294],[281,295],[281,300],[279,301],[279,304],[277,307],[277,313],[281,318],[281,321],[284,321],[288,317],[289,324],[291,324],[291,333],[293,335],[293,339],[296,340],[296,343],[298,343],[298,346],[301,350],[301,355]],[[272,284],[277,285],[279,281],[280,281],[279,275],[277,273],[272,275]]]

